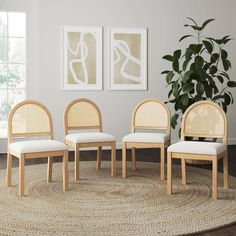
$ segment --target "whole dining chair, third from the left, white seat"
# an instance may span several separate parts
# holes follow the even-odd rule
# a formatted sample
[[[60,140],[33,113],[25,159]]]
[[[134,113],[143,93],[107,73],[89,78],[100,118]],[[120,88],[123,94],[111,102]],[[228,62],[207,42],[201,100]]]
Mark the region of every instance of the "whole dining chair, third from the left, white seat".
[[[136,148],[160,149],[160,178],[165,179],[165,147],[170,145],[170,111],[157,99],[141,101],[133,111],[131,133],[122,139],[122,176],[126,178],[126,149],[131,148],[136,170]]]

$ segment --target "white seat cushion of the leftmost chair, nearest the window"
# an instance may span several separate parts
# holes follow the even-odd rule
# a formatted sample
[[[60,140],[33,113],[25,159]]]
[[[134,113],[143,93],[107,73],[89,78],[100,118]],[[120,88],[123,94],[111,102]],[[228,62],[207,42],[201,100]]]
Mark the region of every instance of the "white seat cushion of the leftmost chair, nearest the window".
[[[66,151],[67,145],[56,140],[27,140],[13,142],[9,146],[10,151],[17,153]]]

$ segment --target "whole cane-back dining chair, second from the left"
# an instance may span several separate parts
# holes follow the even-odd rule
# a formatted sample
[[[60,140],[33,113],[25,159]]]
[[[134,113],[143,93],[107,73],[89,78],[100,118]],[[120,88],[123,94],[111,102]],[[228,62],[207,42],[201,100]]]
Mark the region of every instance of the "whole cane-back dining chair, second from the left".
[[[72,101],[64,112],[65,143],[75,150],[75,179],[79,179],[80,149],[96,147],[96,169],[101,169],[102,147],[111,147],[111,176],[116,175],[116,139],[104,133],[102,116],[91,100],[79,98]]]

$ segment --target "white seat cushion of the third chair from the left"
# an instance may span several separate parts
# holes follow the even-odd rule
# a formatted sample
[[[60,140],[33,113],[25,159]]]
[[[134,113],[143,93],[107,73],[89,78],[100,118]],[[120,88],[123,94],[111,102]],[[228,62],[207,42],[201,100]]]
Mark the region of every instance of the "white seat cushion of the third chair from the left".
[[[165,143],[170,135],[163,133],[131,133],[123,137],[122,142],[135,143]]]

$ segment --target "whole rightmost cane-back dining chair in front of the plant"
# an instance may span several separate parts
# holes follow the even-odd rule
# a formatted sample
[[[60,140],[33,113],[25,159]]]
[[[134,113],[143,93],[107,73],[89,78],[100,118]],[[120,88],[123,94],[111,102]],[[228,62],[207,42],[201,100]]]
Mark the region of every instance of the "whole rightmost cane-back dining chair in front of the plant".
[[[187,141],[186,138],[217,139],[217,142]],[[182,184],[187,183],[186,159],[212,162],[212,198],[217,199],[218,160],[223,158],[224,187],[228,188],[227,118],[212,101],[199,101],[184,113],[181,141],[169,146],[167,157],[167,193],[172,194],[172,159],[181,159]]]

